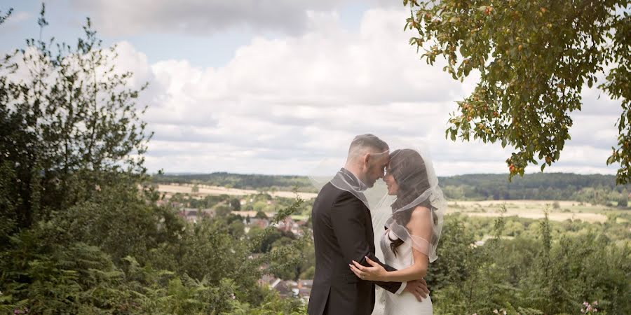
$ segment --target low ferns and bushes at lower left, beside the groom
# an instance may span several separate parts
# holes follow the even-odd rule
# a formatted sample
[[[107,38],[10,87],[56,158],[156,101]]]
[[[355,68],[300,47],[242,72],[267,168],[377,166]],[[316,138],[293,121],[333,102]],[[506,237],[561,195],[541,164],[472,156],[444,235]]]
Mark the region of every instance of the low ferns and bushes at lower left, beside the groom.
[[[135,188],[108,188],[48,221],[6,235],[10,241],[0,251],[0,309],[25,306],[42,314],[301,309],[297,300],[279,300],[257,280],[297,268],[308,238],[290,239],[256,255],[255,248],[276,228],[245,237],[243,225],[233,230],[227,224],[230,217],[187,223],[176,209],[147,201]],[[273,221],[295,209],[285,209]]]

